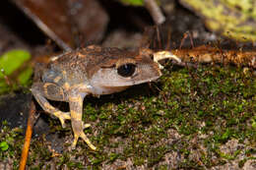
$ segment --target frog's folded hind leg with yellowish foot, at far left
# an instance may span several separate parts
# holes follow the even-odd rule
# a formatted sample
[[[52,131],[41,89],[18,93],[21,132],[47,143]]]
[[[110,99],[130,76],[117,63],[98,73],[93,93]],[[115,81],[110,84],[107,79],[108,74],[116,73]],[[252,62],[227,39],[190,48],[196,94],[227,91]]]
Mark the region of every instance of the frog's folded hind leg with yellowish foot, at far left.
[[[70,119],[70,113],[60,111],[47,100],[67,101],[67,95],[63,88],[54,83],[34,83],[32,85],[32,94],[42,109],[59,118],[62,127],[65,128],[65,120]]]

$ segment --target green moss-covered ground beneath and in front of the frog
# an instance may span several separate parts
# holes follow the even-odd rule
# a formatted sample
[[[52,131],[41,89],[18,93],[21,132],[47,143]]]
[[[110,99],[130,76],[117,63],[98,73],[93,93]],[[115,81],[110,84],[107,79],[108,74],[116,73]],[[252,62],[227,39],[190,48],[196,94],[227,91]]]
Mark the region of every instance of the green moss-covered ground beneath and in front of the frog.
[[[65,142],[53,156],[45,138],[33,139],[31,169],[208,169],[256,164],[256,79],[232,66],[168,65],[158,83],[85,100],[85,130],[97,150],[80,140],[70,150],[72,131],[49,118]],[[254,75],[253,75],[254,74]],[[3,128],[1,162],[17,169],[23,136]],[[60,143],[61,144],[61,143]],[[0,144],[1,146],[1,144]],[[5,147],[6,148],[6,147]]]

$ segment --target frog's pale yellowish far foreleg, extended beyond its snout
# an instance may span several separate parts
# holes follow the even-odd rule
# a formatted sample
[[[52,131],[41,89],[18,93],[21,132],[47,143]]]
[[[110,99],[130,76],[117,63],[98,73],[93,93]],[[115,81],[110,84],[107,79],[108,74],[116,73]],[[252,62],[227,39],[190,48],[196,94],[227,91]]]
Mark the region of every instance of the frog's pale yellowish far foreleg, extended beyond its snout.
[[[180,58],[178,58],[176,55],[173,55],[169,51],[159,51],[154,53],[154,61],[159,64],[160,69],[163,69],[163,66],[160,65],[159,61],[163,59],[174,59],[178,63],[181,62]]]

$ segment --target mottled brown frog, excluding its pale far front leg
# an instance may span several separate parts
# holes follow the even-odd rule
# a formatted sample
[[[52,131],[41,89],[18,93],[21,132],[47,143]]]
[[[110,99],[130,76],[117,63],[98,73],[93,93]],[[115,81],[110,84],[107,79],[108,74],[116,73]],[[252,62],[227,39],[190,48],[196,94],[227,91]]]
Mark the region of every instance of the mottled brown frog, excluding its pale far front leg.
[[[160,77],[159,64],[152,60],[151,50],[129,52],[117,48],[89,46],[67,52],[39,72],[32,94],[46,112],[58,117],[62,126],[71,119],[76,146],[82,138],[96,147],[84,134],[89,124],[82,122],[83,100],[88,94],[101,95],[121,91],[128,86],[155,81]],[[47,99],[69,102],[70,112],[62,112]]]

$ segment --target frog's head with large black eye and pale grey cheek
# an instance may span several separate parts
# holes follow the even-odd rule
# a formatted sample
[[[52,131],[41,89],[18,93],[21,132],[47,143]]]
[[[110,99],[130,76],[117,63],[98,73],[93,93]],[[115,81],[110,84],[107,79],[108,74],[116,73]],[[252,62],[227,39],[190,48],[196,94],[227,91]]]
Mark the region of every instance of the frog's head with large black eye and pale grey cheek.
[[[112,93],[131,85],[156,81],[160,78],[160,67],[154,62],[150,50],[139,53],[107,57],[91,78],[96,93]],[[130,54],[130,55],[129,55]]]

